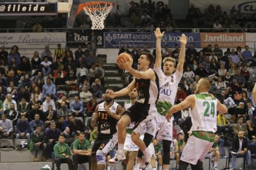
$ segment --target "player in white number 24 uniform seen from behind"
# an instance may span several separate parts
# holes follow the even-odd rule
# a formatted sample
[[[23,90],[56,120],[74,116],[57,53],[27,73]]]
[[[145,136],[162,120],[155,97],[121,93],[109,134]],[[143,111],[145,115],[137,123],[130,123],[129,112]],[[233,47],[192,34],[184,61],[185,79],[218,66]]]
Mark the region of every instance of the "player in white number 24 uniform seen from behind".
[[[184,108],[191,108],[191,134],[181,154],[178,170],[187,169],[189,164],[192,170],[203,169],[202,161],[215,140],[217,110],[222,113],[228,112],[225,105],[221,104],[212,94],[208,94],[211,83],[211,79],[201,78],[195,94],[189,95],[183,102],[174,105],[166,113],[166,120],[170,121],[173,113]]]

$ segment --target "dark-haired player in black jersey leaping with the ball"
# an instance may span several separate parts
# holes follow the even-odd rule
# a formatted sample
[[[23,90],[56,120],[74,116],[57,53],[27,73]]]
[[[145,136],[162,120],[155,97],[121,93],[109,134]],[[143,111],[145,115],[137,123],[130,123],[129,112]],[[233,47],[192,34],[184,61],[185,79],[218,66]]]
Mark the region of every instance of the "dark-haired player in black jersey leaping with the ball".
[[[142,150],[143,160],[146,163],[149,163],[151,160],[152,155],[148,153],[145,143],[140,140],[140,135],[145,131],[151,119],[157,114],[155,103],[159,95],[159,81],[155,71],[150,68],[152,63],[153,56],[143,52],[138,60],[138,69],[140,71],[134,70],[129,62],[125,62],[124,60],[120,64],[121,67],[128,70],[134,76],[134,80],[121,91],[109,92],[109,97],[114,98],[127,95],[134,87],[137,89],[138,97],[137,102],[132,105],[132,107],[128,108],[128,110],[124,111],[124,114],[117,124],[118,151],[116,156],[109,160],[109,163],[117,163],[126,159],[124,155],[124,140],[126,139],[126,126],[128,126],[131,121],[136,122],[134,131],[132,132],[132,141]],[[151,139],[149,140],[150,144]]]

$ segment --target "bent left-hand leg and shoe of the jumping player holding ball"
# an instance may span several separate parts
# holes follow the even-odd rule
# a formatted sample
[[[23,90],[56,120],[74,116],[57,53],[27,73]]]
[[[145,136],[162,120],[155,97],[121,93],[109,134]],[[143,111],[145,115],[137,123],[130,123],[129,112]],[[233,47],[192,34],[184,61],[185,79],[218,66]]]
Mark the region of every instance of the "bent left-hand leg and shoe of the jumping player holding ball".
[[[130,117],[126,114],[122,115],[117,123],[117,137],[118,137],[118,150],[114,158],[109,160],[109,163],[118,163],[119,161],[126,160],[124,155],[124,141],[126,140],[126,126],[130,124]]]

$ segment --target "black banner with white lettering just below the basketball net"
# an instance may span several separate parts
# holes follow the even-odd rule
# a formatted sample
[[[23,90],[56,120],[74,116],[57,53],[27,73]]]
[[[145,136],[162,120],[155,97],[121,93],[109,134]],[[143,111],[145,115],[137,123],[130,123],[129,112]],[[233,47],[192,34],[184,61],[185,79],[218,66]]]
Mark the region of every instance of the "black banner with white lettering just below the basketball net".
[[[67,33],[67,46],[77,48],[79,45],[85,47],[91,42],[92,30],[74,30]],[[97,47],[103,47],[103,33],[102,31],[94,30],[97,37]]]

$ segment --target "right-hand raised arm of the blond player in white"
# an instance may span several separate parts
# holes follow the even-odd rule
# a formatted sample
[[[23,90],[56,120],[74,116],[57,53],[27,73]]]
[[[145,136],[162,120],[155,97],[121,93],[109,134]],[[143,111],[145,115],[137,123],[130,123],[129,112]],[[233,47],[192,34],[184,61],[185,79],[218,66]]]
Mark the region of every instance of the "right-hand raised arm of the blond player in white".
[[[187,44],[187,37],[185,36],[185,34],[181,35],[179,42],[181,43],[181,51],[179,52],[179,62],[177,64],[176,70],[179,71],[179,73],[183,73],[183,65],[185,62]]]

